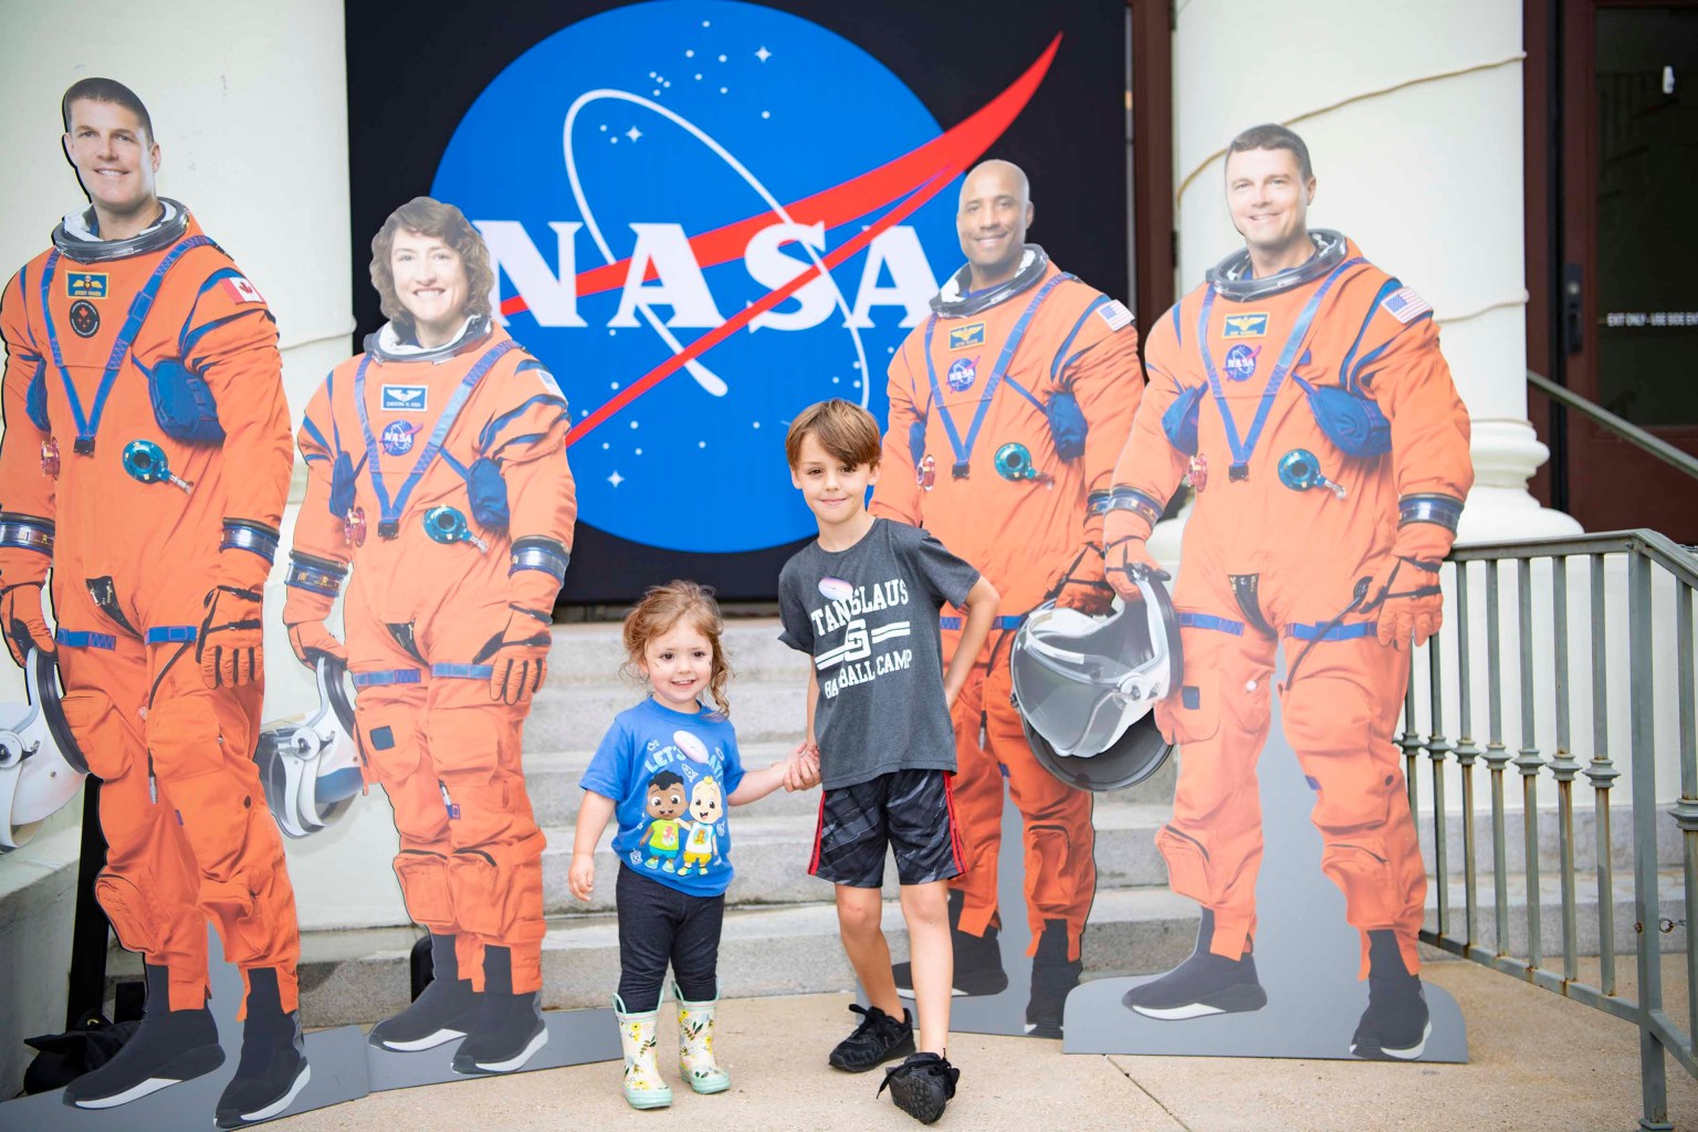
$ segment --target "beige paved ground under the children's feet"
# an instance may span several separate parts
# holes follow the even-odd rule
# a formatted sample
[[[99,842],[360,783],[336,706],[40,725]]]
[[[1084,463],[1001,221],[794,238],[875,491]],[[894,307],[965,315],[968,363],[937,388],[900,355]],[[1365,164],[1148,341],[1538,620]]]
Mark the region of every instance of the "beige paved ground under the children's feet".
[[[1623,993],[1632,993],[1625,976]],[[1138,1129],[1151,1132],[1363,1132],[1377,1129],[1533,1129],[1627,1132],[1639,1127],[1637,1030],[1476,964],[1430,962],[1426,978],[1462,1005],[1474,1061],[1403,1066],[1345,1061],[1063,1056],[1060,1042],[959,1034],[951,1061],[961,1093],[939,1127]],[[1594,971],[1581,972],[1594,978]],[[1669,1013],[1684,1023],[1686,979],[1664,964]],[[375,1093],[350,1105],[278,1122],[278,1132],[385,1129],[413,1132],[577,1132],[638,1125],[718,1129],[844,1129],[900,1132],[914,1122],[880,1074],[825,1068],[849,1030],[847,995],[737,1000],[717,1040],[732,1073],[720,1096],[678,1091],[671,1110],[638,1113],[620,1096],[618,1062],[513,1078]],[[671,1034],[671,1006],[662,1034]],[[662,1042],[662,1052],[667,1042]],[[1698,1129],[1698,1083],[1669,1064],[1669,1113]]]

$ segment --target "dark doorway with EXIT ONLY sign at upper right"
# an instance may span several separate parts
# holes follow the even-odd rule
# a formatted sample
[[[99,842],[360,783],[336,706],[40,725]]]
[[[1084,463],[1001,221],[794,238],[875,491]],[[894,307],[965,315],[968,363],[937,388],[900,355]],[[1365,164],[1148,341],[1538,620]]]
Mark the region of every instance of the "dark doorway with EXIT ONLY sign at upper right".
[[[1527,12],[1528,363],[1698,451],[1698,3]],[[1543,399],[1530,411],[1554,506],[1698,541],[1698,480]]]

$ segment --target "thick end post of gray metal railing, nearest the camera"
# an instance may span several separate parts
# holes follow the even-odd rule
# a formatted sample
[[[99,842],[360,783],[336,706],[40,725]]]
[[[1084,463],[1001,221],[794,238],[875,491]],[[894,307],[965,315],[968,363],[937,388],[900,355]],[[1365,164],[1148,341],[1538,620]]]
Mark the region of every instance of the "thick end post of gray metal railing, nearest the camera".
[[[1667,1062],[1652,1013],[1662,1010],[1662,905],[1657,899],[1657,721],[1652,670],[1650,560],[1630,550],[1627,557],[1628,679],[1633,703],[1633,918],[1639,932],[1639,1078],[1645,1115],[1642,1129],[1669,1124]]]

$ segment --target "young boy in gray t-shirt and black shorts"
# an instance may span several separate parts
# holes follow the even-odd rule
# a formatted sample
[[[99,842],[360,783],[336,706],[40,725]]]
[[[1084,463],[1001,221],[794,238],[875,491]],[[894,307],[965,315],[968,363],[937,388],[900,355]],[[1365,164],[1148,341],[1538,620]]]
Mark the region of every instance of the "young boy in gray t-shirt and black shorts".
[[[885,1084],[897,1107],[931,1124],[961,1076],[944,1056],[954,964],[946,883],[963,871],[949,704],[997,616],[997,591],[925,531],[868,514],[880,434],[866,409],[835,399],[810,406],[790,426],[784,455],[820,523],[820,538],[778,582],[779,640],[813,657],[803,747],[818,752],[825,793],[808,871],[837,886],[844,950],[871,1001],[851,1006],[864,1020],[830,1064],[866,1073],[908,1054]],[[937,640],[944,601],[968,614],[947,675]],[[908,925],[917,1052],[880,930],[886,845]]]

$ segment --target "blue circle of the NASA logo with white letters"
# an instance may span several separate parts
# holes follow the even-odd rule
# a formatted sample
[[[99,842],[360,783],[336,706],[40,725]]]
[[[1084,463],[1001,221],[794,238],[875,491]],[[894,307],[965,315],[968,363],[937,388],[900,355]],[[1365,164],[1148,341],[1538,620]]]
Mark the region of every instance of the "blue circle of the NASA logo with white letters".
[[[891,355],[961,261],[959,177],[720,328],[876,227],[900,197],[856,180],[939,134],[856,44],[730,0],[593,15],[484,88],[431,195],[484,234],[498,316],[560,378],[581,521],[686,552],[815,531],[783,474],[784,429],[827,397],[885,419]],[[657,367],[676,368],[645,382]],[[735,489],[737,506],[672,506],[679,482]]]

